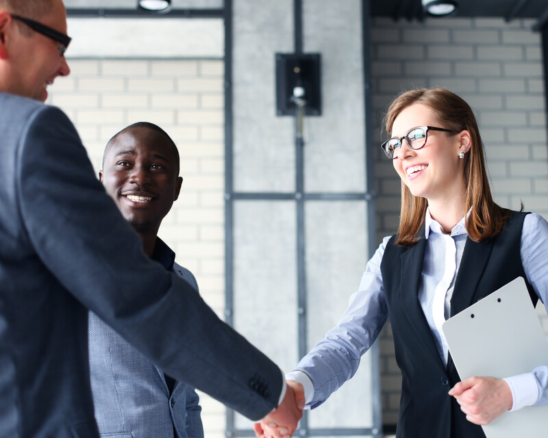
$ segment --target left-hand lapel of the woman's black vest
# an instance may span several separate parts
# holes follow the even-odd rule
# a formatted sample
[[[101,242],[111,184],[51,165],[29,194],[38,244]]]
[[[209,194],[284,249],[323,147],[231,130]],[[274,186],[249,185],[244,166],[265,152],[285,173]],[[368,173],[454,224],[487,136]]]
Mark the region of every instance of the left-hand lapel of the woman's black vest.
[[[421,339],[425,350],[438,363],[440,369],[445,370],[440,355],[438,355],[434,336],[419,302],[419,284],[426,248],[424,229],[419,237],[421,240],[401,255],[401,299],[403,308],[412,323],[411,326],[417,337]]]

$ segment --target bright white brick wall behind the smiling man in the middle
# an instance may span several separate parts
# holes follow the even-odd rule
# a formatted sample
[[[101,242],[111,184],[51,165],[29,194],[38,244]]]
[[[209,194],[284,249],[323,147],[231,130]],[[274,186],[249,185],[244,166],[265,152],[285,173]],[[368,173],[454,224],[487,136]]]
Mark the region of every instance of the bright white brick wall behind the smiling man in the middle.
[[[106,142],[131,123],[156,123],[177,144],[184,182],[160,236],[195,274],[206,302],[222,315],[224,62],[69,59],[69,66],[71,76],[55,81],[49,103],[69,114],[97,171]],[[223,405],[205,394],[201,405],[206,437],[224,437]]]

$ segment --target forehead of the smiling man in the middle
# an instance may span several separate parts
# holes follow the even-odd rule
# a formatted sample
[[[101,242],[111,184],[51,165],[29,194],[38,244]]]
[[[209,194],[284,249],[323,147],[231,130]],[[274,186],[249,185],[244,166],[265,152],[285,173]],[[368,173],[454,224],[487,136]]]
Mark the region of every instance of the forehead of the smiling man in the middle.
[[[124,152],[145,157],[160,155],[169,162],[176,159],[173,145],[168,138],[158,131],[145,127],[127,129],[119,133],[110,142],[107,157],[114,157]]]

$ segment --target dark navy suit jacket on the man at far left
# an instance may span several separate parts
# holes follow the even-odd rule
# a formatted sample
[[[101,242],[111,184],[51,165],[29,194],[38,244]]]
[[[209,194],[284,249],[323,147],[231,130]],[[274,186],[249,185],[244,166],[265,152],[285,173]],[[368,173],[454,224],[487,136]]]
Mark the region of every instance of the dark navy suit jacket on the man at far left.
[[[65,114],[0,93],[0,437],[94,437],[88,309],[258,420],[282,371],[142,250]]]

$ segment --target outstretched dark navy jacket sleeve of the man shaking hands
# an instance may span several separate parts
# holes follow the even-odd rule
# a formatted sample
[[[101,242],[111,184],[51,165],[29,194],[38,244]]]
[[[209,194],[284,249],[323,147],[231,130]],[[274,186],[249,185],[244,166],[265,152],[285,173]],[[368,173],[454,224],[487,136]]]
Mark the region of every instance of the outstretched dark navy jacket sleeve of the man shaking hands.
[[[251,420],[274,409],[282,371],[143,253],[65,114],[40,107],[18,149],[27,239],[64,288],[177,380]]]

